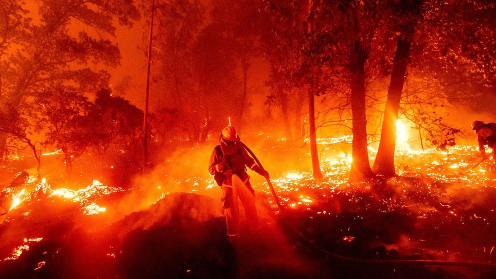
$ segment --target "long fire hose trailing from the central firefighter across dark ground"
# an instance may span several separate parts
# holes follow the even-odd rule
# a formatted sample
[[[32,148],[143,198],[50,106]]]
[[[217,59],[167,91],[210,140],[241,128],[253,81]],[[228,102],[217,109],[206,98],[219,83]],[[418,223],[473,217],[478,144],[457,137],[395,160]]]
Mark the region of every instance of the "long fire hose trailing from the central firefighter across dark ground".
[[[243,142],[239,141],[241,147],[243,147],[250,155],[253,157],[255,160],[256,164],[261,169],[264,169],[256,155],[246,146]],[[275,203],[277,204],[277,207],[279,208],[279,212],[281,215],[282,220],[284,223],[291,229],[293,233],[295,233],[300,240],[302,240],[303,243],[306,245],[318,250],[319,252],[323,253],[324,255],[328,257],[333,257],[336,259],[344,260],[344,261],[351,261],[351,262],[359,262],[359,263],[375,263],[375,264],[404,264],[404,265],[435,265],[435,266],[461,266],[461,267],[473,267],[473,268],[496,268],[495,263],[484,263],[484,262],[466,262],[466,261],[447,261],[447,260],[422,260],[422,259],[366,259],[366,258],[358,258],[358,257],[352,257],[352,256],[345,256],[341,255],[332,251],[329,251],[317,244],[315,244],[312,240],[308,239],[306,236],[304,236],[300,231],[298,231],[295,227],[293,227],[286,218],[286,214],[284,213],[285,209],[282,207],[279,197],[277,196],[277,193],[275,192],[274,187],[272,186],[272,183],[270,182],[269,177],[265,177],[267,180],[267,184],[270,188],[270,191],[272,192],[272,195],[274,196]]]

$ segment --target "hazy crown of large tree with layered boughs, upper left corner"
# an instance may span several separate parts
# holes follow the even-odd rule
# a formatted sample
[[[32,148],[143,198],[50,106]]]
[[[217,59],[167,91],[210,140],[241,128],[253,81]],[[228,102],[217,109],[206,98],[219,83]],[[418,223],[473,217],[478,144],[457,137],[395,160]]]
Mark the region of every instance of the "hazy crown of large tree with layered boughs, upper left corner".
[[[4,7],[4,1],[1,3]],[[22,35],[16,37],[15,43],[8,46],[7,54],[1,57],[2,103],[21,116],[32,110],[35,105],[32,100],[39,98],[39,92],[46,94],[64,88],[83,94],[106,85],[108,73],[87,64],[117,65],[118,48],[104,36],[113,36],[114,18],[120,24],[130,25],[131,20],[139,16],[129,0],[42,0],[37,3],[39,23],[17,16],[16,20],[23,22],[17,24],[22,27],[17,33]],[[14,4],[9,7],[19,10]],[[75,36],[69,32],[74,20],[84,26]],[[95,33],[97,36],[92,35]],[[22,117],[17,119],[20,121]],[[31,123],[28,124],[25,128],[33,130]]]

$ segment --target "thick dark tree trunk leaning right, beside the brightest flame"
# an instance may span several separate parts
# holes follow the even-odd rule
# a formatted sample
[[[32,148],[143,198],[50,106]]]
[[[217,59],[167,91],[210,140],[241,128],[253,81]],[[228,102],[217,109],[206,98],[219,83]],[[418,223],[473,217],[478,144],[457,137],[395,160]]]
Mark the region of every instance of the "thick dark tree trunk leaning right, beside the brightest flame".
[[[396,175],[394,167],[394,149],[396,145],[396,120],[398,119],[401,91],[410,55],[413,31],[402,32],[398,36],[396,53],[391,71],[389,90],[387,91],[384,119],[380,132],[380,142],[377,156],[373,164],[375,174],[392,177]]]

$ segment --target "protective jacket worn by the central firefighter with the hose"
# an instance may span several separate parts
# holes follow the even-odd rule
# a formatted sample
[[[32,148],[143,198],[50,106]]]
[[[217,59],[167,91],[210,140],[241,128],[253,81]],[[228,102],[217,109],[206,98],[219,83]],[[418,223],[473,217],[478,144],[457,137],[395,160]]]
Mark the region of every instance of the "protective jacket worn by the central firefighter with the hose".
[[[220,162],[224,156],[224,152],[220,145],[215,146],[210,156],[210,161],[208,163],[208,171],[213,174],[213,177],[217,184],[221,186],[232,185],[231,176],[232,174],[237,174],[243,182],[249,179],[248,173],[246,173],[246,166],[251,170],[260,173],[260,167],[256,164],[255,160],[250,157],[244,148],[236,146],[236,150],[231,154],[225,154],[229,156],[229,163],[223,165]]]

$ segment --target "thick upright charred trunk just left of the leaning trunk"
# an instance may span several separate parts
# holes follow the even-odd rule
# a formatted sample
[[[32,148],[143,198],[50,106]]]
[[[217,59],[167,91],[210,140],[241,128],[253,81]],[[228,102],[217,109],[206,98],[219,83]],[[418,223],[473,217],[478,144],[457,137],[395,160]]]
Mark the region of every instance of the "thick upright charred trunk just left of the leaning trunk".
[[[353,125],[351,169],[349,181],[364,181],[373,177],[372,169],[368,161],[367,151],[367,119],[365,106],[365,61],[368,58],[369,49],[360,41],[353,43],[350,53],[349,70],[351,74],[351,110]]]

